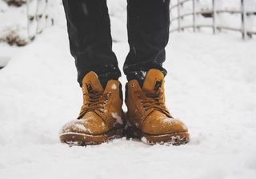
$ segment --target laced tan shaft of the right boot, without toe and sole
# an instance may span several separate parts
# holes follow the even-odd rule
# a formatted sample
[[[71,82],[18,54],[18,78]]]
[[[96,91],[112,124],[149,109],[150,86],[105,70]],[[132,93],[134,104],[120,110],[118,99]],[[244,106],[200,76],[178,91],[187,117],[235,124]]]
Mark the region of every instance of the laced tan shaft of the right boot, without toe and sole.
[[[166,113],[166,116],[171,117],[165,102],[164,75],[159,70],[148,71],[142,88],[137,80],[130,80],[126,84],[128,113],[138,113],[132,115],[146,118],[154,110],[160,110]]]

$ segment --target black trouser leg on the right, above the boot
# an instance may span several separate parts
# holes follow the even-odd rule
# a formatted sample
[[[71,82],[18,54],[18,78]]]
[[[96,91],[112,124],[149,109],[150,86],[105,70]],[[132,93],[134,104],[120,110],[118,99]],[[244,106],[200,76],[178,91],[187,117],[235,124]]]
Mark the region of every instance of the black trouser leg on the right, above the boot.
[[[128,81],[140,83],[150,69],[161,70],[169,39],[170,0],[127,0],[130,52],[123,67]]]

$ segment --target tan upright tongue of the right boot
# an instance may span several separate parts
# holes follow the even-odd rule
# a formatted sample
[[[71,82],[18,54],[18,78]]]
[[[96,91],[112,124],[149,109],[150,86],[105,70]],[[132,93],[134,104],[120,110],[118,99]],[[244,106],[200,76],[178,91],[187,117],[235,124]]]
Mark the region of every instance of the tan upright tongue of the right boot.
[[[160,70],[149,70],[146,74],[146,78],[144,79],[142,90],[150,92],[157,91],[162,86],[163,78],[164,75]]]

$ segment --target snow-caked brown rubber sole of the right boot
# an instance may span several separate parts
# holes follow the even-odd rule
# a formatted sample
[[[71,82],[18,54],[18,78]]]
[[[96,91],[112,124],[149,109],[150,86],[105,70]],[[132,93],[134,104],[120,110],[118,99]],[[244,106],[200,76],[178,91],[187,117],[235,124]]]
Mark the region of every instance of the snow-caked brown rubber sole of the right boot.
[[[190,141],[190,134],[186,132],[166,133],[162,135],[153,135],[150,133],[143,133],[140,129],[130,128],[126,129],[126,137],[140,138],[146,144],[167,144],[167,145],[184,145]]]

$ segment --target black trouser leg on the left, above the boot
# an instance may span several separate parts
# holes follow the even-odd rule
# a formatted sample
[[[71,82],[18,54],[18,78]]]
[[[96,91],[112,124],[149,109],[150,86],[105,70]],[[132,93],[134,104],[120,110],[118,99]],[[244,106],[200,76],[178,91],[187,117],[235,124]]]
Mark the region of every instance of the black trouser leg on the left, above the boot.
[[[106,0],[62,0],[66,13],[70,52],[75,58],[78,82],[94,71],[103,86],[121,76],[112,51]]]

